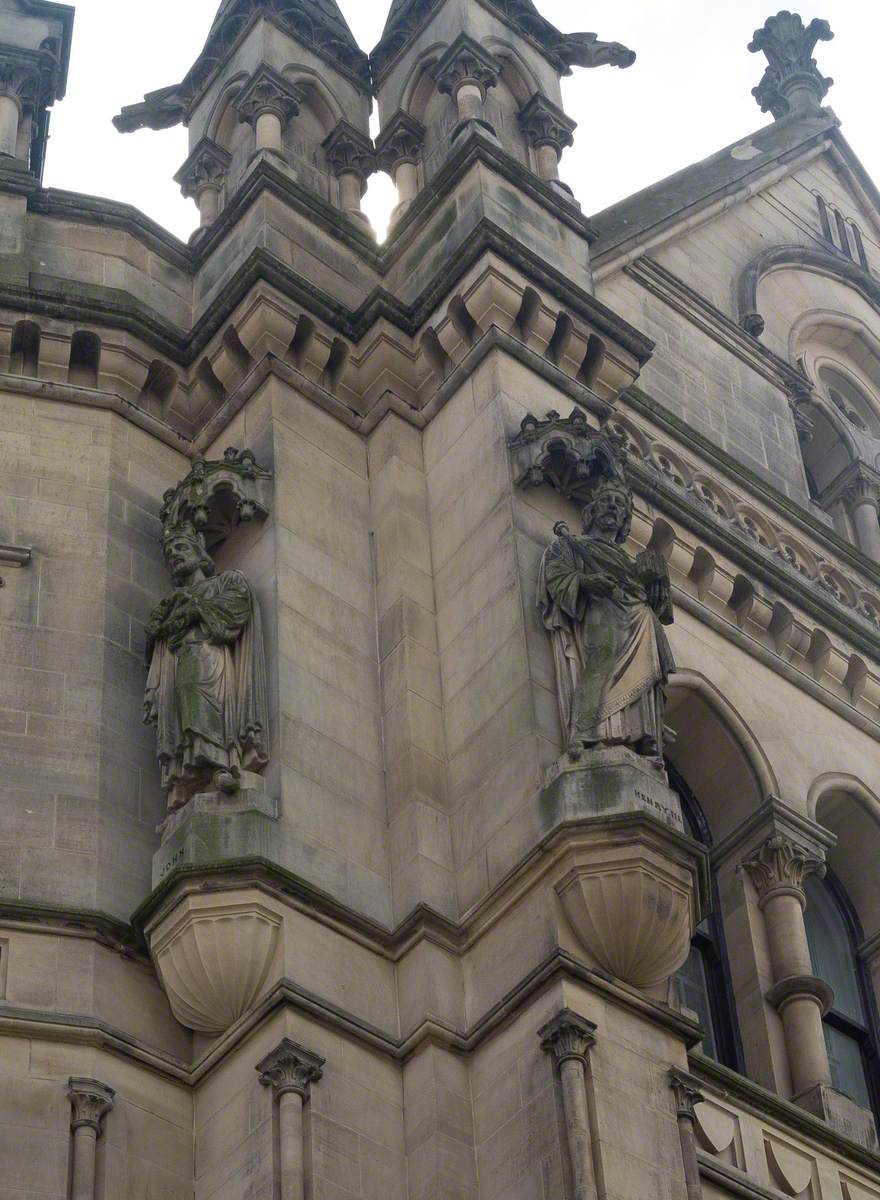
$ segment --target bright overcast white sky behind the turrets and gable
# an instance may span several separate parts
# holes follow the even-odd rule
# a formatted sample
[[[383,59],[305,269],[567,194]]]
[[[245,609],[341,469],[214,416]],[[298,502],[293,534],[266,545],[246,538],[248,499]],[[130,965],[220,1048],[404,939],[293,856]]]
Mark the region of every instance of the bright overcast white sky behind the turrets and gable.
[[[116,133],[110,119],[146,91],[178,83],[204,44],[220,0],[78,0],[66,100],[55,106],[46,184],[137,205],[187,238],[196,206],[172,176],[187,155],[186,131]],[[340,0],[354,36],[370,50],[390,0]],[[575,68],[563,80],[579,122],[562,175],[586,212],[597,212],[680,167],[766,124],[750,95],[766,60],[746,49],[779,7],[774,0],[538,0],[561,30],[592,30],[624,42],[639,59],[628,71]],[[792,5],[796,7],[796,5]],[[878,138],[879,0],[821,0],[801,7],[825,17],[834,41],[820,42],[819,66],[837,82],[826,103],[880,184]],[[365,208],[377,228],[394,190],[375,176]]]

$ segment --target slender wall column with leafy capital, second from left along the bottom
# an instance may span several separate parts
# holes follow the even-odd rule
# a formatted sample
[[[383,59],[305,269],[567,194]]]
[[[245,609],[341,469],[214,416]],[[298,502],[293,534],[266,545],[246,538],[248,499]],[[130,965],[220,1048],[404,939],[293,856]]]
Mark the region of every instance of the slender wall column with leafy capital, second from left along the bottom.
[[[323,1074],[324,1060],[289,1038],[257,1063],[259,1081],[271,1087],[279,1106],[279,1174],[282,1200],[305,1200],[305,1134],[303,1106],[311,1085]]]

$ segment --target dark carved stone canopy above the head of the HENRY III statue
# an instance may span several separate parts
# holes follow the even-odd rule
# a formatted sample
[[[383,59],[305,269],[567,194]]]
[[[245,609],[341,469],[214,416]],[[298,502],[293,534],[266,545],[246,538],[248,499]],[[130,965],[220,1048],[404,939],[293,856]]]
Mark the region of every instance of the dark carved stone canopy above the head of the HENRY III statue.
[[[580,408],[570,416],[551,412],[544,420],[529,413],[509,448],[517,487],[547,484],[567,500],[586,504],[600,479],[625,486],[623,440],[593,428]]]

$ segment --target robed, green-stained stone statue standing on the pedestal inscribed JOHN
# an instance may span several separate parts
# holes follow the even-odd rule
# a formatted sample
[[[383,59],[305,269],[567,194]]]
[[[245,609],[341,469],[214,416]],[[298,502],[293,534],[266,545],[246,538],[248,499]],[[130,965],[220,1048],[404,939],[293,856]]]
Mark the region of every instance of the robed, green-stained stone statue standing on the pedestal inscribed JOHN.
[[[166,528],[173,593],[146,625],[144,720],[156,726],[168,808],[234,793],[269,760],[259,605],[240,571],[215,571],[192,524]]]

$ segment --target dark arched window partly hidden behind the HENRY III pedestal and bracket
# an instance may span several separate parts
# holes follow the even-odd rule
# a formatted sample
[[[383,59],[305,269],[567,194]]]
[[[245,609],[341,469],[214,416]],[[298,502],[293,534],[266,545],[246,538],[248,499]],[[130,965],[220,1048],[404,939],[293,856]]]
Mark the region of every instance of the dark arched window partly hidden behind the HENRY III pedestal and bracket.
[[[711,848],[712,832],[700,802],[672,763],[666,762],[666,772],[670,786],[682,802],[686,830],[695,841]],[[712,911],[698,925],[690,940],[690,954],[676,976],[678,998],[682,1007],[696,1013],[705,1030],[702,1052],[716,1062],[741,1072],[742,1043],[720,917],[720,896],[714,875],[711,881],[711,895]]]

